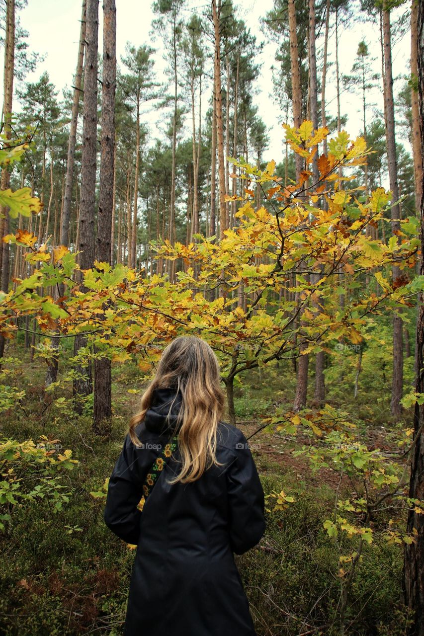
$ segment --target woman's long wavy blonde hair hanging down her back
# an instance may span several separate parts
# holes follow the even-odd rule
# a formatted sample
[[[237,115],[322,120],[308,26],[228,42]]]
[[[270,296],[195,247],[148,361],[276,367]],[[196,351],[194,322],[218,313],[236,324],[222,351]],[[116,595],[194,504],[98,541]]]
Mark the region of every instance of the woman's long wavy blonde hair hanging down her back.
[[[220,385],[220,366],[208,343],[197,336],[179,336],[162,352],[155,377],[141,397],[141,409],[129,422],[129,436],[140,440],[135,427],[152,405],[155,389],[181,392],[182,404],[173,433],[178,429],[181,471],[169,483],[199,479],[209,467],[222,466],[216,459],[216,432],[222,417],[225,394]],[[173,407],[169,407],[169,413]]]

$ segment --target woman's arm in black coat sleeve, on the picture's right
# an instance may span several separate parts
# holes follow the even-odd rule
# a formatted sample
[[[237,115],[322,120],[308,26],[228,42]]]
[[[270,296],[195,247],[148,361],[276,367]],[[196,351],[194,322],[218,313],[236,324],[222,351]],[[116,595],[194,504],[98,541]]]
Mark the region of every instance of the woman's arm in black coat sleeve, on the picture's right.
[[[255,460],[243,432],[238,436],[236,459],[227,472],[229,534],[232,551],[237,555],[253,548],[265,532],[265,497]]]

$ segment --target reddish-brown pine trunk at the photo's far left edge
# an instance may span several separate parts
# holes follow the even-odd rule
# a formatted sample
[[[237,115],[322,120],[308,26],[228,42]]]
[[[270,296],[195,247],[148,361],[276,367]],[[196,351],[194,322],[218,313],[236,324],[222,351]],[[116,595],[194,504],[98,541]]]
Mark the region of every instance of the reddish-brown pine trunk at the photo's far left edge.
[[[11,139],[11,112],[13,104],[13,74],[15,71],[15,0],[6,0],[6,34],[4,41],[4,80],[3,80],[3,134],[4,146]],[[3,168],[1,172],[0,189],[7,190],[10,184],[10,172]],[[9,244],[3,242],[3,237],[9,231],[8,209],[0,206],[0,287],[8,291],[9,286]],[[0,359],[4,354],[4,336],[0,336]]]

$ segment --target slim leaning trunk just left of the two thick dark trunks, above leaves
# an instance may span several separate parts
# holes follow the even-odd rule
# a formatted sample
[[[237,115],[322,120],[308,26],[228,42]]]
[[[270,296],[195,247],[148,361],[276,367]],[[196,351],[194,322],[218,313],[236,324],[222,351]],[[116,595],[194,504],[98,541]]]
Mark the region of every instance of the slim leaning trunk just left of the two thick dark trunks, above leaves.
[[[74,96],[71,111],[71,128],[67,142],[67,162],[65,177],[65,194],[63,202],[62,223],[60,224],[60,245],[69,245],[69,221],[71,219],[72,183],[74,174],[74,157],[76,144],[76,126],[78,123],[78,106],[80,104],[81,76],[85,46],[85,20],[87,0],[83,0],[81,10],[80,44],[78,46],[78,59],[76,62]]]

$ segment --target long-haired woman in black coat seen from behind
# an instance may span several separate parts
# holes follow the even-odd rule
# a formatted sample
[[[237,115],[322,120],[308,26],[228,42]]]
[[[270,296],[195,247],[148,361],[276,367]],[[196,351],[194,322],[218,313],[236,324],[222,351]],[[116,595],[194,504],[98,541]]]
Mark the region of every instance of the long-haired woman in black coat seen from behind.
[[[223,406],[211,347],[176,338],[109,481],[104,521],[137,545],[124,636],[256,636],[233,553],[264,534],[264,491],[243,432],[220,421]]]

